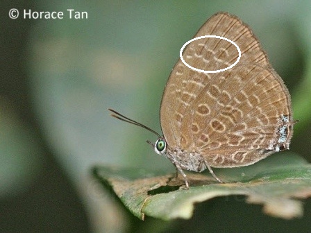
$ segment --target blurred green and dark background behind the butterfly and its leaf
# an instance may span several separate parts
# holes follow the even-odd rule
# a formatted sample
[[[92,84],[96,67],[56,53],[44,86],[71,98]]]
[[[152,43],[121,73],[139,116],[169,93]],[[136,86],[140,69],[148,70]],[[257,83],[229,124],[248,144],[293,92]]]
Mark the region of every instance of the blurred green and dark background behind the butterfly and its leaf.
[[[22,19],[24,9],[65,17]],[[67,9],[88,17],[69,19]],[[218,11],[253,28],[285,80],[300,121],[291,150],[310,162],[310,9],[310,1],[1,1],[0,232],[310,232],[310,198],[293,221],[235,196],[198,205],[190,221],[142,222],[90,176],[94,164],[174,171],[146,144],[154,135],[107,108],[160,132],[180,47]]]

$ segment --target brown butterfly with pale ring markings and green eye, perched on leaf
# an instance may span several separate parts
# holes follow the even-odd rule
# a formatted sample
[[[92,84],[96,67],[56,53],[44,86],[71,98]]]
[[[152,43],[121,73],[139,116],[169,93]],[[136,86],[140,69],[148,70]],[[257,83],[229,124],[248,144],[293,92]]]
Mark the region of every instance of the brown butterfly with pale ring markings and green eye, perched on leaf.
[[[248,166],[289,149],[296,123],[287,87],[249,26],[228,12],[218,12],[194,37],[203,35],[235,42],[241,58],[233,68],[215,74],[194,71],[178,60],[162,96],[162,135],[109,109],[117,119],[158,136],[152,144],[155,152],[176,166],[187,189],[185,169],[208,169],[222,182],[212,167]],[[216,38],[195,40],[183,51],[187,64],[205,70],[224,69],[237,57],[233,44]]]

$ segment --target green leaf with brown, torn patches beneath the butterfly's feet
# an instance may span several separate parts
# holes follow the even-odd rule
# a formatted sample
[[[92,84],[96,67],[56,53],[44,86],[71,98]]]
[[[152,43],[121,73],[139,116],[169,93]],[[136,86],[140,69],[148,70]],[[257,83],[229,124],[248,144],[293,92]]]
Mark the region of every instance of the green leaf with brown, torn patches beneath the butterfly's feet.
[[[195,203],[229,195],[244,195],[246,202],[262,204],[264,213],[290,219],[303,215],[297,198],[311,196],[311,165],[292,153],[271,155],[251,166],[214,171],[225,184],[217,183],[208,173],[187,173],[187,190],[181,175],[175,178],[174,173],[163,171],[96,166],[93,174],[141,219],[188,219]]]

